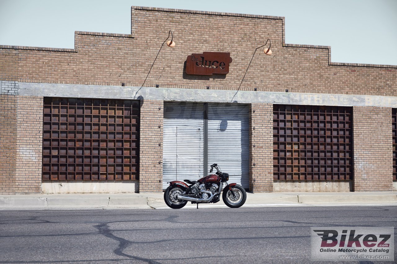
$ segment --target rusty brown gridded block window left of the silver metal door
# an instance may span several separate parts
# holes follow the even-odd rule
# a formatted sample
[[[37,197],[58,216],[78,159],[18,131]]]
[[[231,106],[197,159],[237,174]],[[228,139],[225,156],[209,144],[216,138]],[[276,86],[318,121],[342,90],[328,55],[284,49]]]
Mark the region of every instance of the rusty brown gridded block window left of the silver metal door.
[[[137,180],[138,100],[44,98],[43,180]]]

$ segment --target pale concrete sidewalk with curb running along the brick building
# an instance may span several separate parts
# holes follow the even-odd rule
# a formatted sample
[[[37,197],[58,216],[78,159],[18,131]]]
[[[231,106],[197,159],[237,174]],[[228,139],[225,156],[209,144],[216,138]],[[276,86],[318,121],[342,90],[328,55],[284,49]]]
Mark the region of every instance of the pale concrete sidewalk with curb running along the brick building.
[[[0,210],[44,209],[169,209],[163,193],[71,193],[0,195]],[[247,193],[243,207],[282,206],[397,206],[397,192],[282,192]],[[195,208],[187,203],[184,208]],[[226,207],[222,199],[216,203],[200,204],[199,208]]]

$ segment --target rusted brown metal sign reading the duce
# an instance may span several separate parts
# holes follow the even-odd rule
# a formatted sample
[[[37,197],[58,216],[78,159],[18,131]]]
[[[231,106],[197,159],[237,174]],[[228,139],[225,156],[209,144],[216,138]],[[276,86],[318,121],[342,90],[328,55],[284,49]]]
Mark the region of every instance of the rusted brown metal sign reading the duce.
[[[232,61],[229,52],[193,53],[187,56],[185,72],[192,75],[227,74]]]

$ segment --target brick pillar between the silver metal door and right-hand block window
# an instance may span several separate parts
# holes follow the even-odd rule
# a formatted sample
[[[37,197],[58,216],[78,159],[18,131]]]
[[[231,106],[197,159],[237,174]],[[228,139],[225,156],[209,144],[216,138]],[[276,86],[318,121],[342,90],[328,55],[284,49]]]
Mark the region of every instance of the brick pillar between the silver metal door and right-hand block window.
[[[271,192],[273,191],[273,105],[252,103],[249,126],[249,189],[252,192]]]

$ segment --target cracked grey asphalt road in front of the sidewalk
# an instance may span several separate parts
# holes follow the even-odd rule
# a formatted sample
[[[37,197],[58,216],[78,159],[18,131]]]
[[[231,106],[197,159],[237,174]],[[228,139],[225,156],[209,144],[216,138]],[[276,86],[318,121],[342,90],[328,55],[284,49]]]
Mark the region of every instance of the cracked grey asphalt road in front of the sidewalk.
[[[394,206],[0,211],[0,262],[309,263],[311,226],[397,230],[396,216]]]

